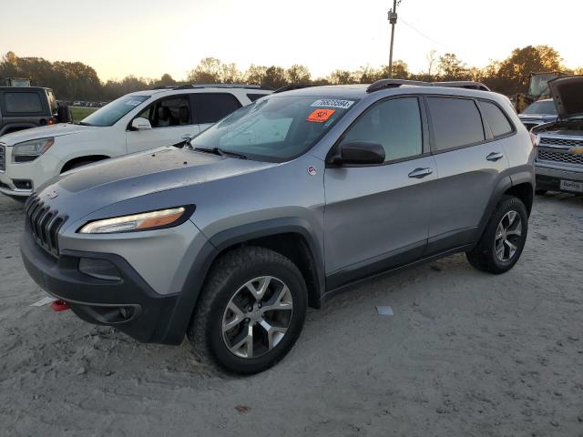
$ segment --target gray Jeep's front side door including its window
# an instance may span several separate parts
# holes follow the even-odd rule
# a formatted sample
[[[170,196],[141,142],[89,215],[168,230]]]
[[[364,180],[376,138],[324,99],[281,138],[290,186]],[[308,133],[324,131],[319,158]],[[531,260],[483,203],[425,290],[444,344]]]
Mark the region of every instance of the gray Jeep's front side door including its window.
[[[435,161],[419,97],[373,104],[340,141],[384,147],[383,165],[326,168],[325,269],[329,288],[422,256]]]

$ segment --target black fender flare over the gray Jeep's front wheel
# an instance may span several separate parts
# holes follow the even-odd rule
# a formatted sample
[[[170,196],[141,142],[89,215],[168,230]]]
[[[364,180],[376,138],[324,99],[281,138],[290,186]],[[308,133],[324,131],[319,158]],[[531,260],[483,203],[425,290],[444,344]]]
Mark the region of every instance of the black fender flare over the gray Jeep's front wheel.
[[[179,344],[184,339],[210,267],[223,250],[251,239],[289,233],[301,235],[308,245],[317,279],[315,281],[316,293],[319,300],[322,300],[325,290],[322,248],[308,220],[289,217],[248,223],[218,232],[210,237],[202,249],[199,250],[191,264],[182,290],[179,291],[178,300],[169,318],[169,324],[161,342]]]

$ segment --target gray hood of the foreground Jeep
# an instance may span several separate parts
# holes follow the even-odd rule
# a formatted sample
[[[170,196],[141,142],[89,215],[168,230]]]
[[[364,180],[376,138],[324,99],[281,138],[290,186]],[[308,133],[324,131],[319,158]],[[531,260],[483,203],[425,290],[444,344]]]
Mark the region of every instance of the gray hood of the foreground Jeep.
[[[64,173],[37,190],[38,196],[75,221],[119,202],[192,188],[221,178],[232,178],[277,164],[226,158],[210,153],[160,147],[146,152],[106,159]],[[188,198],[181,198],[184,204]],[[192,203],[195,203],[192,201]],[[174,205],[175,206],[175,205]],[[115,207],[114,207],[115,208]],[[135,212],[135,211],[134,211]]]

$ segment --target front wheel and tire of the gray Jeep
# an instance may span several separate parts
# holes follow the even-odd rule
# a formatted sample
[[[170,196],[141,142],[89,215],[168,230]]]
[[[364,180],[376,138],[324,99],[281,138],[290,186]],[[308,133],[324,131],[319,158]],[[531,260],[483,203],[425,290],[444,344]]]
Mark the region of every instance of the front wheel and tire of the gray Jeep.
[[[267,285],[262,287],[264,284]],[[263,298],[253,297],[250,290],[258,294],[265,290]],[[305,281],[290,259],[260,247],[233,249],[210,269],[187,336],[199,361],[214,361],[235,373],[257,373],[269,369],[292,349],[302,331],[307,308]],[[285,326],[287,330],[282,333],[281,327]],[[250,341],[245,341],[250,339],[249,332],[251,353]],[[245,342],[238,348],[242,341]]]

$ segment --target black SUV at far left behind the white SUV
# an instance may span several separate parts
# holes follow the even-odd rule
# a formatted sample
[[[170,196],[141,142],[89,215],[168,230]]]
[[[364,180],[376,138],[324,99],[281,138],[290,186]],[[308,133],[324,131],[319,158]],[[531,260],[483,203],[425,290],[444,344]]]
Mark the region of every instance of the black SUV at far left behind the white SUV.
[[[28,127],[67,121],[70,121],[68,109],[58,107],[52,89],[0,86],[0,136]]]

